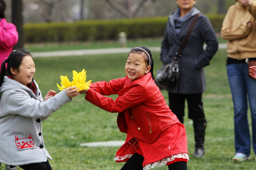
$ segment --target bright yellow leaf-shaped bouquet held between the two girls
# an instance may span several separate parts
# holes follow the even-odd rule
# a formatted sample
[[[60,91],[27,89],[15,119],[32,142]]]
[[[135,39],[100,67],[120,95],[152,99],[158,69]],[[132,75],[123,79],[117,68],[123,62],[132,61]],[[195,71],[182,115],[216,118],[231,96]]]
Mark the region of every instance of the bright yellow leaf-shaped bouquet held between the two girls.
[[[74,87],[74,86],[79,88],[78,91],[82,91],[82,90],[89,89],[89,86],[91,85],[90,84],[91,80],[86,82],[86,71],[84,71],[84,69],[82,70],[82,72],[79,72],[79,73],[73,70],[72,82],[69,81],[67,75],[60,76],[60,80],[61,80],[60,82],[61,86],[59,86],[59,84],[57,83],[57,87],[60,91],[68,87]]]

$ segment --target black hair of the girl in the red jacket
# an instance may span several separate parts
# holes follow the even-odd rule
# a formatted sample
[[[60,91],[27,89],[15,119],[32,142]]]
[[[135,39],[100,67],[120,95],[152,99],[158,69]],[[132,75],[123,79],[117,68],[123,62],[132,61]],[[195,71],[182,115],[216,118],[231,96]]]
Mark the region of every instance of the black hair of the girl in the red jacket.
[[[143,50],[140,49],[140,48],[142,48]],[[146,53],[144,50],[148,53],[149,56],[147,55],[147,53]],[[150,51],[148,48],[146,48],[146,47],[139,46],[139,47],[135,47],[135,48],[131,49],[130,53],[131,53],[131,52],[132,52],[132,53],[143,53],[143,54],[144,54],[143,57],[144,57],[144,59],[145,59],[147,65],[150,65],[150,66],[151,66],[151,68],[150,68],[151,77],[152,77],[152,79],[155,81],[155,83],[156,83],[157,87],[159,88],[159,90],[162,90],[163,87],[162,87],[160,84],[157,83],[157,81],[156,81],[156,79],[155,79],[155,77],[154,77],[154,73],[153,73],[153,69],[154,69],[154,60],[153,60],[153,58],[152,58],[152,53],[151,53],[151,51]],[[130,53],[129,53],[129,54],[130,54]],[[129,55],[128,55],[128,56],[129,56]],[[149,59],[149,57],[150,57],[150,59]]]

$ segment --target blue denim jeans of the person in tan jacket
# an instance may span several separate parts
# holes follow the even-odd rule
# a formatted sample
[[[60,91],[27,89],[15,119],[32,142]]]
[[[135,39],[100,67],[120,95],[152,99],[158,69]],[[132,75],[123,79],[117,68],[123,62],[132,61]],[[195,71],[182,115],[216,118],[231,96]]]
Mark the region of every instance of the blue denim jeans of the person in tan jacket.
[[[247,63],[228,64],[227,75],[234,105],[236,153],[243,153],[249,156],[251,151],[251,136],[247,119],[247,99],[252,117],[253,150],[256,153],[256,80],[248,77]]]

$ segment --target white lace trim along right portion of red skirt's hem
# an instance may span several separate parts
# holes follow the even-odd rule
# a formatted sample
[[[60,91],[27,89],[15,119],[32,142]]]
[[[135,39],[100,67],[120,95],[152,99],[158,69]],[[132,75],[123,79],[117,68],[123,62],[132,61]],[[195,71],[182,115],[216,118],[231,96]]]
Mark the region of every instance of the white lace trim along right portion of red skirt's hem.
[[[158,162],[145,165],[143,167],[143,170],[148,170],[148,169],[151,169],[151,168],[154,168],[154,167],[161,167],[163,165],[166,165],[168,162],[173,161],[175,158],[183,158],[183,159],[189,160],[188,154],[186,154],[186,153],[171,155],[169,157],[163,158],[162,160],[160,160]]]

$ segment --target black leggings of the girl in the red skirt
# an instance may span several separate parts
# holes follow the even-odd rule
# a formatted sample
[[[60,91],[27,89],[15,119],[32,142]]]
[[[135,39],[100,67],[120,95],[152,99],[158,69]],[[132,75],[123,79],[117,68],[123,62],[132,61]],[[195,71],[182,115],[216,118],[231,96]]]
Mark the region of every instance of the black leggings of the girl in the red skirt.
[[[121,170],[142,170],[143,156],[135,153],[125,163]],[[168,165],[169,170],[187,170],[187,163],[185,161],[178,161]]]

